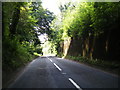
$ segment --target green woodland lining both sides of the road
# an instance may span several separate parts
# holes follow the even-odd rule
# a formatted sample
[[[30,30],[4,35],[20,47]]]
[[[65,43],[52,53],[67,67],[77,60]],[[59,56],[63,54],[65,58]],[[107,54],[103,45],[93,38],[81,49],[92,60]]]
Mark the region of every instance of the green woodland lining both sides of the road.
[[[117,2],[69,2],[59,6],[60,17],[44,9],[41,2],[2,5],[3,70],[24,65],[35,57],[34,53],[42,55],[40,34],[48,35],[50,50],[54,46],[57,56],[120,60]]]

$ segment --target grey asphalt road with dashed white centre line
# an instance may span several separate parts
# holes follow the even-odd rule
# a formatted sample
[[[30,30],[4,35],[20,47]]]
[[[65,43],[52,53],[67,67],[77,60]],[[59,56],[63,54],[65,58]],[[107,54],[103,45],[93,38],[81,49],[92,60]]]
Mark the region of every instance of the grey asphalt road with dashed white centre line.
[[[33,60],[9,88],[118,88],[118,76],[57,57]]]

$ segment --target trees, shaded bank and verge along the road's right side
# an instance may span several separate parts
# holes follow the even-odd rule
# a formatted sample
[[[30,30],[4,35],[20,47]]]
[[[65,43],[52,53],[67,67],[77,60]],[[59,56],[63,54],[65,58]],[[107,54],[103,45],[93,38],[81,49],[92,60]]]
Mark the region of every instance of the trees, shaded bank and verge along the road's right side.
[[[50,36],[57,55],[119,72],[120,4],[69,2],[59,8]]]

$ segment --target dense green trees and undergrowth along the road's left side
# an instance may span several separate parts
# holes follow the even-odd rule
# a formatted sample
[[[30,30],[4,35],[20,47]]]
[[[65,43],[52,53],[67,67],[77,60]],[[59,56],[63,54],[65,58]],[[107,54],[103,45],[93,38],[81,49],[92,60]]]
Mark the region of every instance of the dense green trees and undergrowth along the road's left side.
[[[38,35],[50,33],[52,12],[43,9],[41,2],[2,3],[3,71],[13,70],[42,54]]]

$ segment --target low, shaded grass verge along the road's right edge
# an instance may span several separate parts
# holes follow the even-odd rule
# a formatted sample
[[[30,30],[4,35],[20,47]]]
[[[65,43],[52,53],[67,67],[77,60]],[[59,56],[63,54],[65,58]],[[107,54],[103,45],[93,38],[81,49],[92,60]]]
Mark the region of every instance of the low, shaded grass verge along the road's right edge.
[[[120,76],[120,62],[118,61],[105,61],[100,59],[89,59],[82,56],[66,56],[66,59],[74,60],[80,63],[87,64],[89,66],[102,69],[112,74]]]

